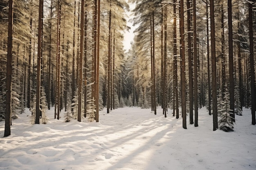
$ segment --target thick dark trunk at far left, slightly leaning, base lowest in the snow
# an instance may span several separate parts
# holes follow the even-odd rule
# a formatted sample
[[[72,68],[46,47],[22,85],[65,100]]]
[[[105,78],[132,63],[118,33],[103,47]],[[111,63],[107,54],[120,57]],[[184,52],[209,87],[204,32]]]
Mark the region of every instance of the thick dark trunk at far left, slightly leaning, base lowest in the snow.
[[[12,75],[12,34],[13,34],[13,0],[9,0],[7,71],[6,71],[6,110],[4,137],[11,135],[11,75]]]

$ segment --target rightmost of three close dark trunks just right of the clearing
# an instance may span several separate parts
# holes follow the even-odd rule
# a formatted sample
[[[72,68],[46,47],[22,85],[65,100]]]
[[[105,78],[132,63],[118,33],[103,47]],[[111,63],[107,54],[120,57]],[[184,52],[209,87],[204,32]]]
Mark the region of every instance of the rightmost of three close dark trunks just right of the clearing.
[[[195,101],[195,127],[198,126],[198,57],[196,46],[196,7],[195,0],[193,0],[193,44],[194,44],[194,101]],[[198,55],[199,56],[199,55]]]

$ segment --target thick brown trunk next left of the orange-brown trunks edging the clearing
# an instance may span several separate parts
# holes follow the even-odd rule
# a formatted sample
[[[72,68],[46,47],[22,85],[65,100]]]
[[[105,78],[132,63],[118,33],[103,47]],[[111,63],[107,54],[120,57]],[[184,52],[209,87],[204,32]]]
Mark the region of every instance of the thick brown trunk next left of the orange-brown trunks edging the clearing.
[[[82,110],[82,86],[83,86],[83,34],[84,34],[84,0],[81,0],[81,28],[80,28],[80,57],[79,57],[79,79],[78,79],[78,115],[77,121],[81,122]]]

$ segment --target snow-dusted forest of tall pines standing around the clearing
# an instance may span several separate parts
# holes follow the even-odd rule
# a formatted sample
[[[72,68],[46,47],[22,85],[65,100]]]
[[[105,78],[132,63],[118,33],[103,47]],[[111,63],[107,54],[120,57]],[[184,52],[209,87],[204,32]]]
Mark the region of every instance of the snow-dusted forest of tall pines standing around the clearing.
[[[213,130],[232,130],[235,115],[246,107],[256,124],[255,2],[129,3],[135,4],[137,27],[125,52],[124,32],[130,29],[125,0],[0,2],[5,128],[24,108],[30,108],[33,123],[47,123],[45,110],[51,107],[56,119],[65,110],[66,121],[99,121],[103,107],[107,113],[123,106],[151,107],[157,114],[162,106],[165,117],[170,109],[178,119],[181,110],[186,128],[186,114],[198,126],[198,108],[206,106]]]

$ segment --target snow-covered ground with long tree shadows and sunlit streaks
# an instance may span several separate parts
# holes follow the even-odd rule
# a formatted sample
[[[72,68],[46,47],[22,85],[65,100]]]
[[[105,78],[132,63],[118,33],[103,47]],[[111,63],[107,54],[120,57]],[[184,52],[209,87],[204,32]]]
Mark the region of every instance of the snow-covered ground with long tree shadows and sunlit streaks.
[[[48,111],[48,110],[47,110]],[[182,128],[162,110],[100,111],[99,123],[65,123],[48,111],[47,124],[31,125],[30,113],[13,120],[11,136],[0,122],[0,170],[256,170],[256,126],[249,109],[236,116],[234,132],[213,131],[199,110],[199,127]]]

